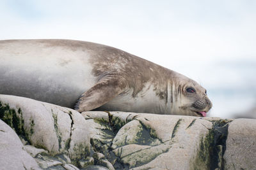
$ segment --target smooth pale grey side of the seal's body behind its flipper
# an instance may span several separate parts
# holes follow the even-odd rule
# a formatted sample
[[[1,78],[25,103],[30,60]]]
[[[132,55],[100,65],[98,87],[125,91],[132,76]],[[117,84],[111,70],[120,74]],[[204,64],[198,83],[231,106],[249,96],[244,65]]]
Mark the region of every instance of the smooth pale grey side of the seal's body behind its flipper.
[[[0,94],[72,108],[96,78],[88,54],[40,43],[0,44]]]

